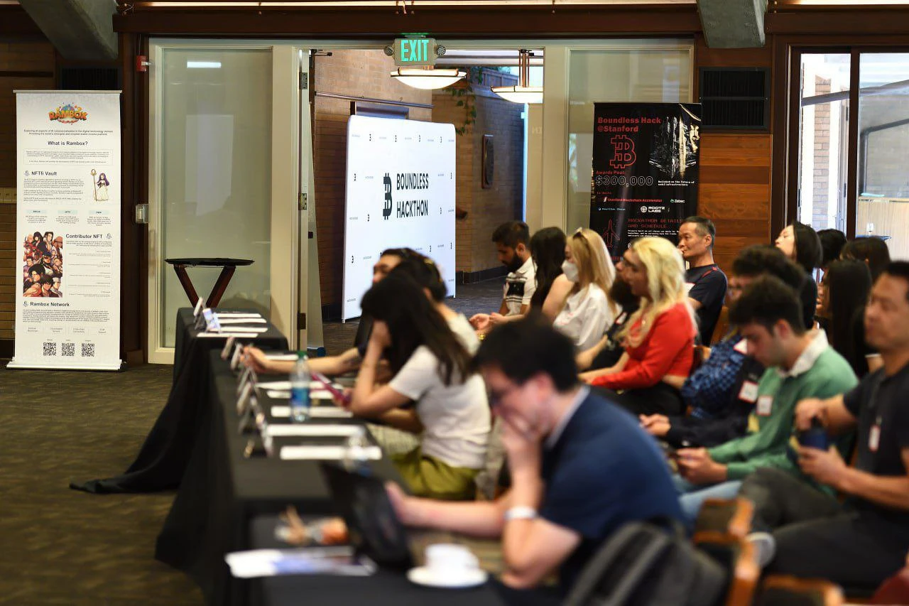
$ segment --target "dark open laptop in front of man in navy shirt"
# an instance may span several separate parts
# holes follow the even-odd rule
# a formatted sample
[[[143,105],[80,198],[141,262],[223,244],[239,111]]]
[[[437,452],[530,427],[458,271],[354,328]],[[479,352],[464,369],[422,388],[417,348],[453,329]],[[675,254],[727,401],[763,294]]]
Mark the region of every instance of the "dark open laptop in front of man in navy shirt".
[[[329,462],[319,466],[357,552],[381,566],[413,568],[407,532],[388,499],[385,482],[368,475],[368,470],[348,471]]]

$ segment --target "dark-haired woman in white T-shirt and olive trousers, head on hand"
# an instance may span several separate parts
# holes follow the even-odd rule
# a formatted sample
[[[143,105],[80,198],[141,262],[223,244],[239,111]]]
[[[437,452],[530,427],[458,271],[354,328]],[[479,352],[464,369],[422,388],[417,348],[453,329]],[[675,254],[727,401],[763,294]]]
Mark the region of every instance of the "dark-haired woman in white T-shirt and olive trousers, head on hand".
[[[350,410],[420,434],[418,448],[392,457],[415,494],[473,498],[490,415],[483,379],[471,372],[467,351],[403,272],[393,272],[367,290],[361,307],[374,324]],[[375,376],[383,358],[393,375],[386,385]],[[415,409],[399,408],[411,401]]]

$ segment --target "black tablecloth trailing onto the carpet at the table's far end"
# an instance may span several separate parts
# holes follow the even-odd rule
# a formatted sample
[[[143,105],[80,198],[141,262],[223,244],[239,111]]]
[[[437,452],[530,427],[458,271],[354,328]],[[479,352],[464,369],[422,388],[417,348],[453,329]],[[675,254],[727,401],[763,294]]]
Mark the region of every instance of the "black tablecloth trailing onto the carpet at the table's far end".
[[[256,346],[287,348],[287,339],[271,323],[257,326],[268,330],[255,335]],[[74,482],[70,488],[95,493],[154,492],[180,485],[196,442],[212,427],[208,407],[210,354],[213,350],[219,353],[225,345],[224,338],[200,338],[200,332],[193,328],[192,309],[177,311],[174,385],[133,464],[123,475]],[[142,394],[135,397],[141,398]]]

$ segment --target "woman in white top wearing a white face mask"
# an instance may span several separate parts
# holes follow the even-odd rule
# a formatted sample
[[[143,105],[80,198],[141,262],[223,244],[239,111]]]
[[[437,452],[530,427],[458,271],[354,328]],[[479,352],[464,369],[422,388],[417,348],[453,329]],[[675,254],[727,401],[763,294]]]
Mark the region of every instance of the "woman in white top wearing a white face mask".
[[[573,286],[553,326],[584,351],[596,345],[618,312],[606,294],[613,285],[615,267],[603,238],[593,229],[578,228],[565,244],[562,271]]]

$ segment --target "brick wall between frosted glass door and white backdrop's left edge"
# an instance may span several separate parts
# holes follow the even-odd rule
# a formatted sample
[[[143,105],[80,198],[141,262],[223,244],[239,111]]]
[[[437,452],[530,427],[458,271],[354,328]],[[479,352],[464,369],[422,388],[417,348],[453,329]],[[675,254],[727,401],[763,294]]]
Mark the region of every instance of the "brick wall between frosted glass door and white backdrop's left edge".
[[[432,103],[432,91],[403,85],[389,76],[395,62],[382,51],[333,50],[315,57],[315,90],[385,101]],[[340,305],[343,288],[345,167],[350,101],[316,96],[313,161],[315,220],[322,304]],[[410,119],[430,121],[431,110],[410,108]]]

